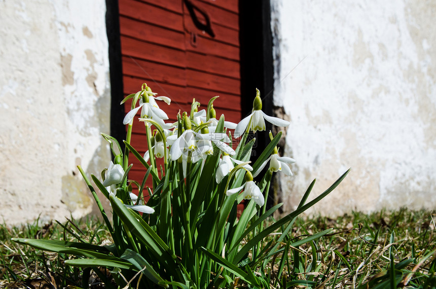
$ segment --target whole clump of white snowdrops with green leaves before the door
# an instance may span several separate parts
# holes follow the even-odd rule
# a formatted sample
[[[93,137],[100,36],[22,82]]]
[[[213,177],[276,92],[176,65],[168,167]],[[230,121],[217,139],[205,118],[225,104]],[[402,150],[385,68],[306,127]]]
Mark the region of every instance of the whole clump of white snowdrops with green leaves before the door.
[[[84,242],[80,236],[75,236],[77,242],[15,241],[75,255],[77,259],[66,260],[65,264],[94,268],[108,287],[113,286],[112,279],[125,288],[211,288],[238,283],[269,287],[265,275],[267,264],[284,245],[298,246],[331,231],[298,241],[290,236],[295,218],[329,194],[348,171],[328,190],[305,204],[312,182],[297,210],[265,226],[264,221],[282,205],[266,209],[271,176],[277,171],[292,175],[289,165],[295,161],[278,155],[281,132],[275,136],[270,132],[271,142],[256,162],[251,163],[255,139],[247,141],[247,135],[264,131],[265,121],[279,127],[289,123],[262,112],[259,90],[252,113],[238,124],[225,121],[224,115],[216,118],[213,109],[216,98],[211,98],[207,109],[201,111],[200,103],[194,99],[191,111],[179,112],[175,123],[166,122],[169,118],[158,105],[158,101],[170,105],[171,100],[157,96],[147,84],[121,102],[132,100],[131,110],[123,120],[127,125],[124,152],[115,138],[102,134],[110,143],[114,161],[101,172],[101,181],[91,175],[95,186],[111,202],[112,222],[79,167],[113,244],[94,245]],[[147,135],[148,151],[143,156],[130,144],[133,119],[138,113]],[[234,130],[233,136],[230,130]],[[234,150],[232,144],[238,138]],[[131,155],[144,166],[141,183],[128,179]],[[258,175],[260,180],[255,183],[253,177]],[[149,178],[151,182],[147,182]],[[152,185],[148,186],[149,183]],[[133,193],[133,188],[138,194]],[[245,208],[238,218],[237,205],[243,200]],[[279,234],[271,235],[277,230]],[[111,277],[97,267],[110,268]]]

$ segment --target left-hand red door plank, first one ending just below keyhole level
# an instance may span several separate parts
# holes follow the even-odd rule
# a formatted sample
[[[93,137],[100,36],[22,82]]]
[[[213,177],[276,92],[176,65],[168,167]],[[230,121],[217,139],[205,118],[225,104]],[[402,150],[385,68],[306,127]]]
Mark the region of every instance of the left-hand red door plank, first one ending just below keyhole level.
[[[186,52],[126,36],[121,36],[121,53],[144,60],[186,67]]]

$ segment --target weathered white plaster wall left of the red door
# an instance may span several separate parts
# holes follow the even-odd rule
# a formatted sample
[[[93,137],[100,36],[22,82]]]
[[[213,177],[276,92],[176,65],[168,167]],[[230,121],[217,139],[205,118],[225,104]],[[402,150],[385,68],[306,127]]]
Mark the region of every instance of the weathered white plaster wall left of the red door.
[[[105,12],[104,0],[0,1],[0,222],[91,211],[76,166],[110,160]]]

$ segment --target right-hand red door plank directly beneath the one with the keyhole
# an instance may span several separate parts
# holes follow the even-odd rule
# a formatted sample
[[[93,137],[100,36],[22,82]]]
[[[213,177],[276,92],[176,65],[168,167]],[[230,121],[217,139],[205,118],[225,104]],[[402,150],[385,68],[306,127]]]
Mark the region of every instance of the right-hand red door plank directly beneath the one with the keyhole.
[[[186,66],[207,73],[218,74],[235,79],[241,78],[240,64],[235,60],[188,51],[186,53]]]

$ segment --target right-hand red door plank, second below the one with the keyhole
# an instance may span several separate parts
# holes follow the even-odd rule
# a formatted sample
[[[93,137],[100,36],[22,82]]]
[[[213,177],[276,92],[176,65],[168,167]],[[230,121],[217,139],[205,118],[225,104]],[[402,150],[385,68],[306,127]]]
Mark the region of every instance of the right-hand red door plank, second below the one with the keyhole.
[[[186,83],[188,87],[203,88],[211,90],[216,94],[225,92],[239,95],[241,93],[241,83],[239,80],[203,73],[193,69],[186,70]]]

